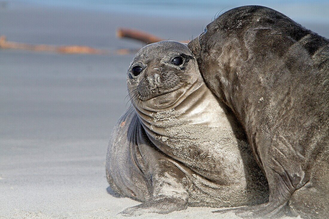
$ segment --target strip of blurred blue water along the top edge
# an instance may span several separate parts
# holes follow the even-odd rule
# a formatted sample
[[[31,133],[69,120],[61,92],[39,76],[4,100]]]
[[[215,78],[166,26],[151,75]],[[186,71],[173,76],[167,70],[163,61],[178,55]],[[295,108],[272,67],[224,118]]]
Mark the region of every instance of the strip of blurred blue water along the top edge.
[[[5,0],[3,0],[5,1]],[[218,11],[243,5],[263,5],[298,22],[329,23],[328,0],[12,0],[25,5],[128,13],[138,16],[177,18],[214,17]]]

